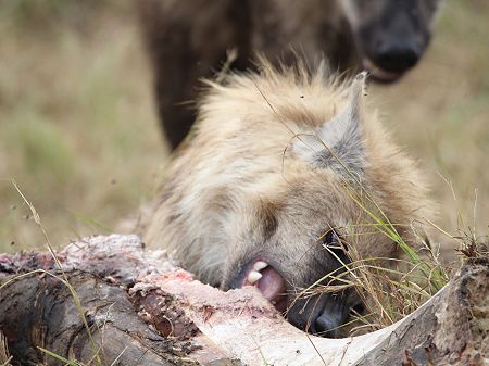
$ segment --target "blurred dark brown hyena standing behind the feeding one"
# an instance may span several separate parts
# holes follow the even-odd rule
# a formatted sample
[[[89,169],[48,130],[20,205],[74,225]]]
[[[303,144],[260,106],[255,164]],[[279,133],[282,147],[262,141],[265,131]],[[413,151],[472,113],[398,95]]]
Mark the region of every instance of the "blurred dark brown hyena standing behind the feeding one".
[[[172,148],[195,121],[196,83],[230,66],[253,67],[254,52],[290,63],[326,55],[333,70],[393,81],[425,51],[441,0],[139,0],[155,97]]]

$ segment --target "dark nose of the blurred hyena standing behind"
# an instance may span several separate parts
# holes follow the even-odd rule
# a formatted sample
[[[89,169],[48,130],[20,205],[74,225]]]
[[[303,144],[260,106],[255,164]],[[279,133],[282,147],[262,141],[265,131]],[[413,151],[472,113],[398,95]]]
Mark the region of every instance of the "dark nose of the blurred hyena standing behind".
[[[371,54],[372,61],[381,70],[403,73],[419,60],[422,49],[413,41],[390,39],[379,42]]]

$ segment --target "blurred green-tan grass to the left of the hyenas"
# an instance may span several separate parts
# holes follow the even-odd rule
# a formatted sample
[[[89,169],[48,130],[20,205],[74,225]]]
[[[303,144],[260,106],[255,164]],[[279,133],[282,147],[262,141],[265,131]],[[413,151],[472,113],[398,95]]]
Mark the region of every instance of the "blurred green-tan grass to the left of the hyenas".
[[[128,3],[100,8],[83,8],[75,24],[58,23],[61,10],[54,24],[45,12],[0,11],[2,252],[43,243],[12,178],[55,245],[114,230],[152,195],[166,153],[150,73]]]

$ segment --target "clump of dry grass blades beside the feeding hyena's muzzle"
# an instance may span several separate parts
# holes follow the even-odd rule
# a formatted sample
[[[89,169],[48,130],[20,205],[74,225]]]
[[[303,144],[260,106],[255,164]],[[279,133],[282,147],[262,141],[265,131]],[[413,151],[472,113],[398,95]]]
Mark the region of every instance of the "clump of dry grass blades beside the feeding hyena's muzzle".
[[[362,225],[355,225],[360,227]],[[365,225],[368,226],[368,225]],[[379,224],[373,225],[378,227]],[[358,236],[354,228],[343,238],[354,240]],[[362,235],[365,235],[363,232]],[[321,293],[335,293],[348,288],[354,288],[366,306],[366,314],[354,311],[350,320],[338,328],[349,328],[350,333],[372,331],[389,326],[405,317],[425,301],[431,298],[438,289],[432,285],[432,270],[440,267],[436,255],[423,256],[423,265],[430,268],[422,270],[418,261],[404,261],[399,258],[367,257],[362,258],[355,247],[346,242],[350,262],[342,262],[331,249],[330,254],[341,263],[340,268],[325,275],[312,286],[296,293],[296,300],[309,299]],[[443,274],[443,276],[446,276]],[[443,277],[447,278],[448,277]],[[351,327],[359,324],[355,327]]]

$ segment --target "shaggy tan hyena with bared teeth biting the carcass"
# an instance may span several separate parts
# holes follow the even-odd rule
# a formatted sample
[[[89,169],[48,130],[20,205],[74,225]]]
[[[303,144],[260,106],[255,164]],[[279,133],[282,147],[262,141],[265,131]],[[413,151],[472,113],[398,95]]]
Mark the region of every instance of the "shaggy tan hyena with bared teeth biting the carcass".
[[[261,65],[209,83],[143,238],[203,282],[255,286],[298,328],[338,337],[363,306],[356,292],[294,293],[342,268],[348,245],[398,257],[368,212],[406,224],[398,230],[411,242],[406,227],[429,214],[425,184],[364,105],[363,74],[349,86],[324,66]]]

